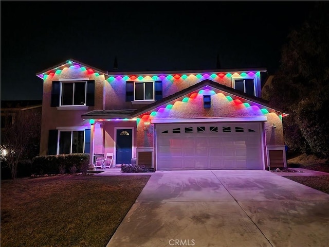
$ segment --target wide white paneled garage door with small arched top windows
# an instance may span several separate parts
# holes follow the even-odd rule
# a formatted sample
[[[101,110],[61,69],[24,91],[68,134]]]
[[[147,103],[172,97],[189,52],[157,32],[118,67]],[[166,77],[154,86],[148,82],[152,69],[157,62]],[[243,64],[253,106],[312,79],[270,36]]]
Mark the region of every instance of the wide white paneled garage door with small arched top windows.
[[[157,170],[263,169],[260,122],[156,124]]]

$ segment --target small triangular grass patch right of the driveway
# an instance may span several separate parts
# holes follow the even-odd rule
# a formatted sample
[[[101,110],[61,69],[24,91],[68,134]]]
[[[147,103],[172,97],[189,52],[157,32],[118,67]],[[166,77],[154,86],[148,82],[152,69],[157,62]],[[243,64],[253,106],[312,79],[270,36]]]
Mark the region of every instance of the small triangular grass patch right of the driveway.
[[[285,178],[329,194],[329,176],[289,176]]]

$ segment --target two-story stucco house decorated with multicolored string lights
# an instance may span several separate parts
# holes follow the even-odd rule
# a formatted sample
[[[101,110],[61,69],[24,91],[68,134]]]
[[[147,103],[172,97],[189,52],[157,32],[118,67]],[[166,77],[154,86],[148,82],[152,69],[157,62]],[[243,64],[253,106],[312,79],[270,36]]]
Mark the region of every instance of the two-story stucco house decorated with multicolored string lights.
[[[67,60],[36,74],[40,155],[114,153],[114,164],[136,157],[156,170],[284,167],[284,114],[261,98],[264,72],[108,73]]]

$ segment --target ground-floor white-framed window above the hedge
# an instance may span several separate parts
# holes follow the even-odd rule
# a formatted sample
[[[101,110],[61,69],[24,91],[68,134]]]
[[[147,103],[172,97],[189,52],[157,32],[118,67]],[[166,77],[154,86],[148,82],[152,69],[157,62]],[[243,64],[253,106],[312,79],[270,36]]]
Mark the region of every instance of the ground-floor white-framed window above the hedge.
[[[84,130],[61,130],[58,135],[58,154],[83,153],[84,152]]]

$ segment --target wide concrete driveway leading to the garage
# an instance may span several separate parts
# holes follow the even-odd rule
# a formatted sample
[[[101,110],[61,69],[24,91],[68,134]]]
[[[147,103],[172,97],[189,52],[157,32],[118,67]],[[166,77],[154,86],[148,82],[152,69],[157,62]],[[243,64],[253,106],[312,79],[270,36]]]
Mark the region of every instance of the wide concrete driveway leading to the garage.
[[[329,246],[329,195],[265,170],[156,171],[107,246]]]

